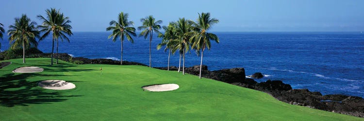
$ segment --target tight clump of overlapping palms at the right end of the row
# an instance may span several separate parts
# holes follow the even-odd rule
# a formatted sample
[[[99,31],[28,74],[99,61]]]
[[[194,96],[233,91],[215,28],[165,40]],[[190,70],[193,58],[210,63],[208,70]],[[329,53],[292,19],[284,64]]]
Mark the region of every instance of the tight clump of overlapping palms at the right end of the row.
[[[180,50],[180,66],[181,66],[181,56],[183,58],[182,64],[182,74],[184,75],[184,60],[185,54],[191,49],[195,49],[196,53],[199,55],[201,52],[201,61],[199,67],[199,78],[201,78],[201,69],[202,69],[202,59],[203,59],[203,51],[207,48],[210,50],[211,42],[210,40],[219,43],[218,37],[207,30],[211,29],[211,27],[218,23],[216,18],[211,18],[210,13],[201,13],[199,14],[199,18],[196,22],[192,20],[186,20],[185,18],[180,18],[177,22],[171,22],[168,28],[164,29],[165,34],[173,34],[175,38],[170,40],[165,40],[165,36],[163,34],[162,43],[157,46],[157,49],[160,49],[162,45],[166,45],[166,48],[171,48],[172,52]],[[170,31],[168,31],[168,29]],[[169,70],[169,55],[168,54],[168,70]],[[180,66],[178,72],[180,72]]]

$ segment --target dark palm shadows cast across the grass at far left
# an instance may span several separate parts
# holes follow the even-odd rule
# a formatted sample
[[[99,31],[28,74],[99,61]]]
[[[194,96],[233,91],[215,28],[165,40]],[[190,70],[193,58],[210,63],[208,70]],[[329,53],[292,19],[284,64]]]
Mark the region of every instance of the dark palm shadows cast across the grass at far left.
[[[6,74],[0,77],[0,105],[1,106],[28,106],[28,104],[50,104],[62,102],[70,97],[82,95],[65,95],[59,91],[47,92],[45,89],[36,88],[38,81],[27,81],[31,76],[66,76],[42,74]]]

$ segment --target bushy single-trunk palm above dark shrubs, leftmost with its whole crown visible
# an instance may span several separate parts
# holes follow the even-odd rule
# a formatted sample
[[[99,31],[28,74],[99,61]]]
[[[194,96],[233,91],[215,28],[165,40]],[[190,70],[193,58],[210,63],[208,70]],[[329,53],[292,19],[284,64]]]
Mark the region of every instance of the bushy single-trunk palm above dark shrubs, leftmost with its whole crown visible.
[[[15,18],[15,23],[9,26],[9,41],[13,43],[11,48],[23,47],[23,63],[25,63],[25,48],[31,44],[35,47],[38,45],[35,38],[39,38],[40,36],[36,25],[27,15],[23,14],[20,18]]]

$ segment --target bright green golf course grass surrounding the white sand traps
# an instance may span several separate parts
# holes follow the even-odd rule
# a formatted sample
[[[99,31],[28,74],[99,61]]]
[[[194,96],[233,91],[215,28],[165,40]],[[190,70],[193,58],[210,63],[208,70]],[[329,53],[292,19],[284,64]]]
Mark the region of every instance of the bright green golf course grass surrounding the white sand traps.
[[[0,69],[0,120],[300,120],[364,121],[338,113],[294,106],[247,88],[199,79],[176,71],[136,65],[76,65],[50,59],[7,60]],[[44,72],[14,74],[22,66]],[[102,74],[99,68],[102,67]],[[40,80],[61,79],[71,90],[47,90]],[[145,85],[175,83],[175,91],[149,92]]]

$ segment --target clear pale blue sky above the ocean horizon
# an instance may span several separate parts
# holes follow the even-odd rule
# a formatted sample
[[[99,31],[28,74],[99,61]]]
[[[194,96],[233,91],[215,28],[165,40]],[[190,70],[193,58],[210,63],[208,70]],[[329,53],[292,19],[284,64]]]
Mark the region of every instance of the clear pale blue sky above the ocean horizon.
[[[153,15],[163,25],[179,17],[196,20],[210,12],[220,20],[212,31],[364,31],[364,0],[1,0],[0,23],[61,9],[73,31],[105,31],[119,12],[129,13],[134,27]]]

